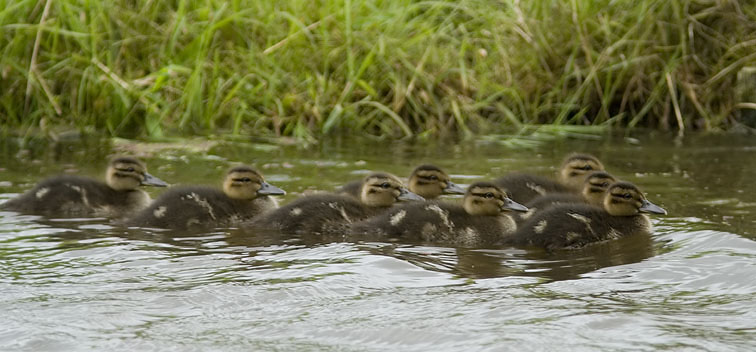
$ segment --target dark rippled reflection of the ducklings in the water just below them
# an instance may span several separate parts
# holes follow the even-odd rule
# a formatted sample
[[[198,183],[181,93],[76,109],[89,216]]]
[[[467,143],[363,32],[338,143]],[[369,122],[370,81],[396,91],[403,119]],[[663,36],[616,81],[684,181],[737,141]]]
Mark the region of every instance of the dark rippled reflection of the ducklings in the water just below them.
[[[7,219],[13,219],[8,216]],[[87,249],[112,245],[112,241],[140,243],[145,250],[160,250],[172,256],[242,255],[250,249],[275,247],[278,251],[317,247],[333,243],[348,245],[354,251],[389,256],[425,270],[452,274],[462,278],[493,278],[503,276],[534,276],[549,280],[575,279],[596,269],[635,263],[650,258],[658,244],[650,236],[632,236],[617,241],[598,243],[579,250],[547,252],[537,248],[446,248],[411,243],[344,242],[320,236],[285,236],[276,232],[250,233],[228,229],[206,233],[174,230],[122,228],[93,219],[34,219],[44,233],[46,243],[57,243],[59,251]],[[13,224],[13,221],[9,221]],[[27,229],[28,231],[28,229]],[[98,239],[105,239],[98,242]],[[39,240],[39,238],[35,239]],[[279,263],[280,264],[280,263]],[[278,265],[278,264],[276,264]]]

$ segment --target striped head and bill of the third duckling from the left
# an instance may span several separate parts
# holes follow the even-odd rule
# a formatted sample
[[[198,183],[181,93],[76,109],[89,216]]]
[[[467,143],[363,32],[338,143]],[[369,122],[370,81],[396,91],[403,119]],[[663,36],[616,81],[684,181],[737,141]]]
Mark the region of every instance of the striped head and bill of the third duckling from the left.
[[[396,176],[376,172],[362,180],[360,200],[370,207],[390,207],[403,200],[424,200],[410,192]]]

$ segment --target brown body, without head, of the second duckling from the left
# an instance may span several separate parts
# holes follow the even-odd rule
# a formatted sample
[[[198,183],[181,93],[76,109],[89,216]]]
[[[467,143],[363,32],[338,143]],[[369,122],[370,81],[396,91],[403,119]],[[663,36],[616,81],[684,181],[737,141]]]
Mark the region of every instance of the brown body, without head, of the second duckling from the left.
[[[149,208],[126,220],[124,225],[166,229],[226,227],[274,207],[275,201],[269,197],[237,200],[210,187],[177,187],[160,195]]]

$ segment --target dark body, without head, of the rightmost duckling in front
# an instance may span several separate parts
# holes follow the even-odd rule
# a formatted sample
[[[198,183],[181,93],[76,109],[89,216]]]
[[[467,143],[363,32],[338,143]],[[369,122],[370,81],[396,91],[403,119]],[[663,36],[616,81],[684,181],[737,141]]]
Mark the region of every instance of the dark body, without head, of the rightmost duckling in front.
[[[547,249],[579,248],[650,232],[651,223],[645,215],[612,216],[589,204],[557,204],[519,225],[506,242]]]

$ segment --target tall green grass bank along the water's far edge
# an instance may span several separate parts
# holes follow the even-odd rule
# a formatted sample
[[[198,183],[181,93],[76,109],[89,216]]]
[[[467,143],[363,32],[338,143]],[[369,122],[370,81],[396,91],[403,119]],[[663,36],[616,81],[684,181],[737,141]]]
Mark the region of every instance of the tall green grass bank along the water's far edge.
[[[756,109],[753,1],[0,0],[0,9],[0,121],[14,128],[300,138],[539,123],[718,130]]]

